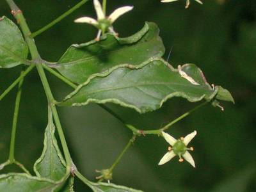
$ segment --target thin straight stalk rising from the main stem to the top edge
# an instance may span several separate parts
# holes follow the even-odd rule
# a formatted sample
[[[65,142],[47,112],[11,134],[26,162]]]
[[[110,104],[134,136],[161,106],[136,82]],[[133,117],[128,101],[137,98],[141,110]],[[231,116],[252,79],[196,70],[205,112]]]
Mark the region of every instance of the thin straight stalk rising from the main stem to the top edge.
[[[67,12],[63,13],[62,15],[60,15],[60,17],[58,17],[57,19],[53,20],[52,22],[50,22],[49,24],[47,24],[46,26],[44,26],[44,28],[39,29],[38,31],[35,31],[34,33],[32,33],[30,36],[31,38],[34,38],[37,35],[40,35],[41,33],[43,33],[44,31],[46,31],[47,29],[51,28],[52,26],[54,26],[55,24],[57,24],[58,22],[60,22],[62,19],[64,19],[65,17],[67,17],[68,15],[70,15],[71,13],[73,13],[74,11],[76,11],[78,8],[80,8],[84,3],[86,3],[88,0],[83,0],[80,1],[79,3],[77,3],[74,7],[72,7],[70,10],[68,10]]]

